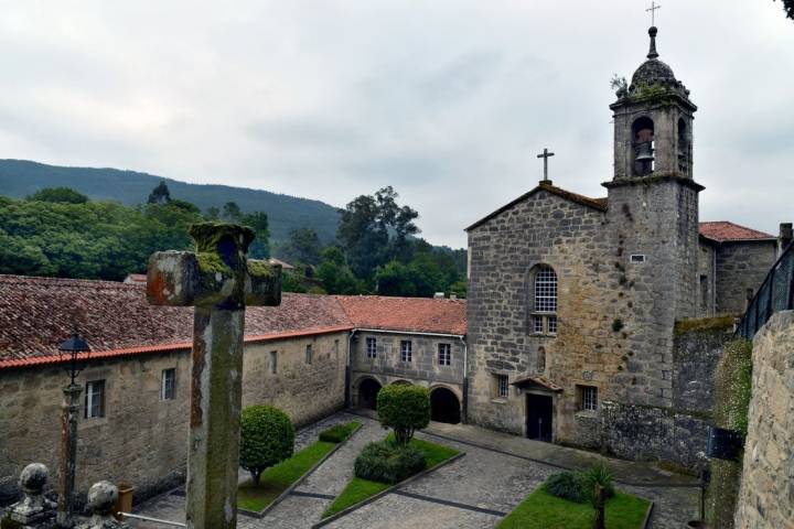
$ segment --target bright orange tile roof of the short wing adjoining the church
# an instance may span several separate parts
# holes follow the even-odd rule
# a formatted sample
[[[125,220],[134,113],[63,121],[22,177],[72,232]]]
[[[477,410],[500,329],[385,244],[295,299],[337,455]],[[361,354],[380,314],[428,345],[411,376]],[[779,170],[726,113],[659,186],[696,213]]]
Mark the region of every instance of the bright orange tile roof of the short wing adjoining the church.
[[[465,300],[337,295],[356,328],[466,334]]]

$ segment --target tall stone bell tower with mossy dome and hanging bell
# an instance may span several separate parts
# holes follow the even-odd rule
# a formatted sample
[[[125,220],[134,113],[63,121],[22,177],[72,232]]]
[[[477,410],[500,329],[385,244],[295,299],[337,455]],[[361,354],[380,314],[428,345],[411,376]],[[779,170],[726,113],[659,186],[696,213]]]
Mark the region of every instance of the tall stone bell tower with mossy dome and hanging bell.
[[[698,193],[704,187],[693,180],[697,107],[658,60],[656,28],[648,34],[647,61],[610,105],[614,177],[603,185],[618,288],[631,302],[626,327],[633,330],[627,339],[634,373],[622,386],[634,402],[667,406],[673,327],[676,320],[697,314]]]

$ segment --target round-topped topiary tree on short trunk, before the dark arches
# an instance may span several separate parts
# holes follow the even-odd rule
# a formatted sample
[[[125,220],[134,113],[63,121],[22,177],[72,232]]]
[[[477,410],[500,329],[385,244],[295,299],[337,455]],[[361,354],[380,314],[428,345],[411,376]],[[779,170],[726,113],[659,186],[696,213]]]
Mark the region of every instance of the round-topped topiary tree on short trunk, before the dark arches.
[[[430,422],[430,392],[427,388],[391,384],[377,396],[380,424],[394,430],[398,444],[407,445],[414,432]]]

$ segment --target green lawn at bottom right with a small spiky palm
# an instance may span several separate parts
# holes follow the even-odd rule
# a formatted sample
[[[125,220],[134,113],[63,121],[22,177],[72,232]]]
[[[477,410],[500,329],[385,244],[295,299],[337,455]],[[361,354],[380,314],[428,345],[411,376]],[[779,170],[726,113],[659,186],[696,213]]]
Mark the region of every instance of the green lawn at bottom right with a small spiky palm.
[[[651,503],[615,490],[607,501],[607,529],[641,529]],[[496,526],[497,529],[591,529],[593,508],[557,498],[545,486],[535,489],[513,512]]]

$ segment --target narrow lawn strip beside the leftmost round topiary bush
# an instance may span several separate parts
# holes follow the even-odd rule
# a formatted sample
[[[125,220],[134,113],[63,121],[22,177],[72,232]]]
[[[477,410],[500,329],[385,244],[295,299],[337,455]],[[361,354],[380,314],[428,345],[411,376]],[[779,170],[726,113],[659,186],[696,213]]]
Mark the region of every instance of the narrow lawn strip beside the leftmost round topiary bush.
[[[347,436],[358,430],[361,422],[352,421],[344,425],[347,430]],[[346,438],[344,438],[346,439]],[[344,440],[343,439],[343,440]],[[259,486],[254,486],[253,482],[246,482],[237,489],[237,507],[260,511],[270,505],[273,499],[278,498],[281,493],[287,490],[303,474],[331,452],[337,443],[325,441],[316,441],[305,449],[296,453],[289,460],[282,461],[276,466],[271,466],[262,472],[259,478]]]

